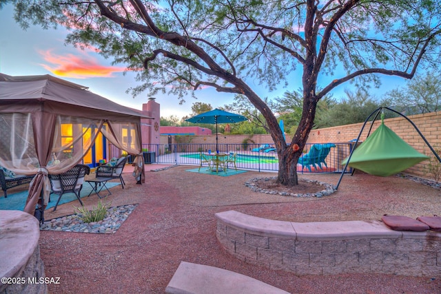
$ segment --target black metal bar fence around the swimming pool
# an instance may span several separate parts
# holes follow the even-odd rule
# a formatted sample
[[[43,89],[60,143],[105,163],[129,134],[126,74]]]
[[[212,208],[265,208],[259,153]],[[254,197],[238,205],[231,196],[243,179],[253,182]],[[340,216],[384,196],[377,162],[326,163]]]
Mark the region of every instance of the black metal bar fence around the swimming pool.
[[[311,149],[313,144],[307,144],[302,157]],[[319,165],[298,165],[300,173],[341,173],[344,168],[342,160],[347,158],[353,148],[353,143],[334,143],[327,154],[324,163]],[[278,171],[278,156],[274,144],[219,144],[219,152],[236,154],[236,167],[256,171]],[[200,153],[216,151],[216,144],[144,144],[144,162],[147,164],[167,165],[200,165]],[[110,147],[110,158],[120,157],[120,149]],[[302,161],[302,160],[299,160]],[[129,158],[132,162],[132,158]],[[309,171],[309,168],[311,171]],[[351,172],[348,167],[345,171]]]

